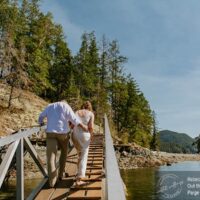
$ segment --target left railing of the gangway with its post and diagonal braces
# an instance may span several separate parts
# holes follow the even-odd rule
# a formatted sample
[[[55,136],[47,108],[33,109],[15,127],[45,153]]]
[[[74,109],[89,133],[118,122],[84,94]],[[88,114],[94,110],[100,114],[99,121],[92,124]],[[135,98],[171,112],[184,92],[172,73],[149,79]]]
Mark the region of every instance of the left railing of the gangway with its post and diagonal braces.
[[[2,162],[0,163],[0,188],[6,177],[6,174],[9,170],[11,162],[14,158],[16,152],[16,166],[17,166],[17,200],[24,199],[24,147],[30,153],[30,156],[33,158],[38,168],[42,172],[44,179],[41,183],[32,191],[27,199],[34,199],[35,195],[40,191],[43,185],[47,182],[47,170],[44,167],[39,155],[35,151],[35,148],[31,144],[28,136],[31,136],[34,133],[39,133],[41,130],[44,130],[46,126],[35,126],[32,128],[21,129],[13,135],[9,135],[3,138],[0,138],[0,147],[8,145],[8,149],[3,157]]]

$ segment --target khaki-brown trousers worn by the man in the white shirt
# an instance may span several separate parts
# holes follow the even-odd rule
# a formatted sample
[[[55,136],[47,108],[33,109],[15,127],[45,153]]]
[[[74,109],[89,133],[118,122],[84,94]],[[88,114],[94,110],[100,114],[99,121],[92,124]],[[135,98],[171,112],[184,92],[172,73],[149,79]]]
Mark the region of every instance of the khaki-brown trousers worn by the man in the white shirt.
[[[54,187],[57,178],[62,178],[68,152],[69,134],[47,133],[47,168],[49,186]],[[59,169],[56,166],[58,147],[61,150]]]

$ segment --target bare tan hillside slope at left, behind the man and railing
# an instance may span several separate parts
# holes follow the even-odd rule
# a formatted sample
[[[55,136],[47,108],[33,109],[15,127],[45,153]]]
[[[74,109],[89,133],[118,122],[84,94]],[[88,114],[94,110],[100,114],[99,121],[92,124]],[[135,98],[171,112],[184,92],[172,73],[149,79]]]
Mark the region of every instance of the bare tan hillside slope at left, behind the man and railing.
[[[12,106],[8,108],[9,85],[0,84],[0,136],[9,135],[20,128],[38,125],[38,115],[47,102],[37,95],[15,89]]]

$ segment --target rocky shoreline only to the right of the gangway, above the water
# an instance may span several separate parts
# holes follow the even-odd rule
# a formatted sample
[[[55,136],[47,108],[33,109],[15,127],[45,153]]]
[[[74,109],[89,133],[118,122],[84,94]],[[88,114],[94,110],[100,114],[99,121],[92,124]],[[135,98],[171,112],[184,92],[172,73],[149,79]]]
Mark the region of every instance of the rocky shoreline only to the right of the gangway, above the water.
[[[200,154],[179,154],[151,151],[138,145],[115,145],[120,169],[159,167],[183,161],[200,161]]]

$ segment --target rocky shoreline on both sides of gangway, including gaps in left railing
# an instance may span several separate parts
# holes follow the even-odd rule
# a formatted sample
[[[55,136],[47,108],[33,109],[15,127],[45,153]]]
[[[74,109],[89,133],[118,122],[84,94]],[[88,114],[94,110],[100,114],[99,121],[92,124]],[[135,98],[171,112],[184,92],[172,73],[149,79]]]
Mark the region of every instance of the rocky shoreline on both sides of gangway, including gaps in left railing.
[[[178,154],[151,151],[139,145],[114,145],[120,169],[136,169],[141,167],[159,167],[183,161],[200,161],[200,154]],[[38,155],[46,167],[46,147],[35,146]],[[29,154],[24,159],[24,178],[42,178],[42,174]],[[16,177],[15,167],[9,171],[9,179]]]

